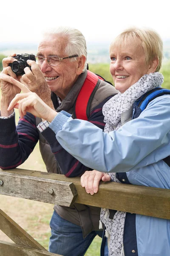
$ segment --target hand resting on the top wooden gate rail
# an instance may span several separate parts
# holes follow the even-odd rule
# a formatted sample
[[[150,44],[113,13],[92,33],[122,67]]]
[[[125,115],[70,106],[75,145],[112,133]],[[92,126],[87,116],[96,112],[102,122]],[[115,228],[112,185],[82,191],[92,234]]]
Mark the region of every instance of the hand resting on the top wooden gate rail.
[[[102,181],[111,181],[111,177],[103,172],[98,172],[96,170],[86,171],[81,176],[81,185],[85,188],[86,192],[91,195],[97,193],[99,190],[99,182]]]

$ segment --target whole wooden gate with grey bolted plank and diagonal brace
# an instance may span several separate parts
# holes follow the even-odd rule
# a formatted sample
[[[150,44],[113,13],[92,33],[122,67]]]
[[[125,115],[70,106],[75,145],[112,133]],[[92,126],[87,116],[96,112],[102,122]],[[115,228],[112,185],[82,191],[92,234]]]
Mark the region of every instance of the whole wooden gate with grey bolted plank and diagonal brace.
[[[67,178],[25,169],[0,169],[0,194],[50,204],[74,203],[170,219],[170,190],[101,182],[99,192],[90,195],[80,178]],[[25,230],[0,210],[0,229],[16,244],[0,241],[0,256],[56,256],[48,253]]]

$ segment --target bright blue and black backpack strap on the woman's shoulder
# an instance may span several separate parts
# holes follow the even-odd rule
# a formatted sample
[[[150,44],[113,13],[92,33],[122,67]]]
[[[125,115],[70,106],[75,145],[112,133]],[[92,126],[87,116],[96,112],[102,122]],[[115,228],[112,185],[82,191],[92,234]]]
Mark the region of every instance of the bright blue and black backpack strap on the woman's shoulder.
[[[144,109],[147,107],[149,102],[151,102],[153,99],[156,99],[159,96],[170,94],[170,90],[164,89],[161,87],[156,87],[153,90],[150,90],[149,92],[145,93],[138,101],[135,102],[135,104],[138,106],[138,108],[141,109],[141,112],[144,111]],[[170,156],[165,157],[162,159],[168,166],[170,166]]]

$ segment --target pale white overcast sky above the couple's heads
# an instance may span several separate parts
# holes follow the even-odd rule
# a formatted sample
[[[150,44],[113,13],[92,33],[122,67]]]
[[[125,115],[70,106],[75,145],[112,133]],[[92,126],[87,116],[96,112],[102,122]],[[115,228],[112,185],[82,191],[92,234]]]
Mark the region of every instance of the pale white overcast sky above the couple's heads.
[[[79,29],[87,41],[111,41],[129,26],[170,38],[170,0],[2,0],[0,42],[38,42],[43,29]]]

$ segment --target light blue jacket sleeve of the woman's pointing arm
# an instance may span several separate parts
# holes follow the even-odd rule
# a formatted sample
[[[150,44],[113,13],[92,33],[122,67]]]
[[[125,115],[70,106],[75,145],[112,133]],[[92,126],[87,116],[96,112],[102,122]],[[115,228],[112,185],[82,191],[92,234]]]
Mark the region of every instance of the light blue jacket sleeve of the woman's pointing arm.
[[[170,154],[170,96],[154,99],[137,119],[108,134],[68,113],[59,113],[50,127],[62,147],[84,165],[101,172],[128,172]]]

